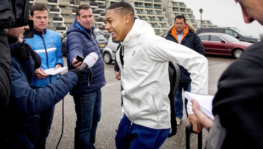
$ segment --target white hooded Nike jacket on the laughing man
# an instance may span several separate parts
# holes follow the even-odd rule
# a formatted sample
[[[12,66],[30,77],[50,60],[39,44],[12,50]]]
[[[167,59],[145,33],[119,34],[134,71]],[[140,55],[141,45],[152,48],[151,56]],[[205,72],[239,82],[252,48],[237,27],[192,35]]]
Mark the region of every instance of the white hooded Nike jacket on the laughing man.
[[[207,59],[186,46],[156,36],[146,21],[136,19],[121,44],[124,50],[116,53],[124,88],[121,117],[125,114],[132,123],[154,129],[171,128],[168,61],[191,73],[192,92],[208,94]],[[124,55],[123,67],[119,52]],[[192,105],[187,106],[188,113],[193,114]]]

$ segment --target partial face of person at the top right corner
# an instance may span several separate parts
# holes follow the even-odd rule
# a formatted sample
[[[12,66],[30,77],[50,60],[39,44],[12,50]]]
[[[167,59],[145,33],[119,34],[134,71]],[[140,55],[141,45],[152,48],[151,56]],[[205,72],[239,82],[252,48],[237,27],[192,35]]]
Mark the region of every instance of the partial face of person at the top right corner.
[[[251,23],[257,20],[263,25],[263,0],[235,0],[240,3],[243,11],[244,21]]]

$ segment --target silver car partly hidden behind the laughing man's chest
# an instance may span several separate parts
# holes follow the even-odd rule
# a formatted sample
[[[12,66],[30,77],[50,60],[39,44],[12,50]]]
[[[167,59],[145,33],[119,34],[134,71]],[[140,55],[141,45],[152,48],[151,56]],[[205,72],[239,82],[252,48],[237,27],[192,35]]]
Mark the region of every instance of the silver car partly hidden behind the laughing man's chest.
[[[103,60],[105,64],[111,64],[115,60],[117,47],[120,42],[115,42],[114,39],[110,36],[108,43],[105,48],[102,50]]]

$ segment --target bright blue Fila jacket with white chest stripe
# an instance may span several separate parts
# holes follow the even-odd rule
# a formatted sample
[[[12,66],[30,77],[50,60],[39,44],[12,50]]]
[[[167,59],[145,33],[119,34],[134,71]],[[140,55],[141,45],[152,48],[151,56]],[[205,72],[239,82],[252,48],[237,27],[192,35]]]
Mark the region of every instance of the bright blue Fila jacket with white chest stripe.
[[[43,32],[34,30],[34,38],[27,39],[26,43],[41,57],[41,68],[43,70],[55,68],[57,64],[63,67],[61,39],[57,32],[49,29],[44,29]],[[44,80],[34,76],[31,85],[33,87],[42,87],[55,81],[57,77],[57,75],[47,76]]]

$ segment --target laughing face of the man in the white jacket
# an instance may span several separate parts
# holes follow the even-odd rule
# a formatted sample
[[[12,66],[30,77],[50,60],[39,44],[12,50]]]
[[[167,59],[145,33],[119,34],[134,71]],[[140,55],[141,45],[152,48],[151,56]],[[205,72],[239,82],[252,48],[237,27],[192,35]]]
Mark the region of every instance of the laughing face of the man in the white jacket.
[[[105,22],[105,30],[108,30],[115,41],[123,41],[132,28],[128,25],[130,24],[130,15],[121,16],[114,10],[107,10]]]

